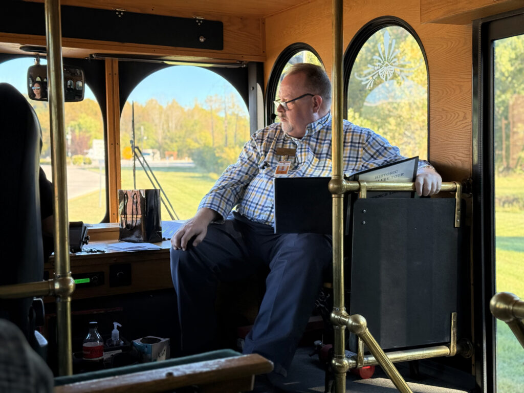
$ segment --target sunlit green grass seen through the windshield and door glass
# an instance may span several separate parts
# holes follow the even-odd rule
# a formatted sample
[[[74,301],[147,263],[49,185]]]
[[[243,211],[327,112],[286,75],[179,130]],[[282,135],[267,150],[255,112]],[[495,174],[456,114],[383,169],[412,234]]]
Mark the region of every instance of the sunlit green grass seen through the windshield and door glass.
[[[133,188],[133,174],[122,169],[122,188]],[[214,184],[215,176],[195,170],[155,171],[162,188],[168,195],[174,210],[181,220],[194,215],[198,204]],[[520,184],[520,186],[519,186]],[[522,193],[524,180],[521,177],[497,178],[496,195],[512,196]],[[145,174],[137,171],[137,188],[152,188]],[[519,194],[520,193],[520,194]],[[69,220],[97,223],[106,212],[105,190],[80,196],[69,201]],[[162,205],[163,220],[170,220]],[[496,274],[497,291],[508,291],[524,298],[524,210],[518,206],[496,209]],[[497,321],[497,387],[502,393],[524,391],[524,348],[506,323]]]

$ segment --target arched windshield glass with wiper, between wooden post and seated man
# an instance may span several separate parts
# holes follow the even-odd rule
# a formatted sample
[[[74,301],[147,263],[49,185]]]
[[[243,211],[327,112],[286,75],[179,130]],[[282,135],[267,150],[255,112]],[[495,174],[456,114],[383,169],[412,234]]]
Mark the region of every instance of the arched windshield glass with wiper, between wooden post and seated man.
[[[122,189],[153,188],[139,155],[136,185],[133,180],[133,105],[135,151],[142,152],[165,191],[173,218],[189,219],[249,139],[247,107],[229,82],[204,68],[177,65],[149,75],[122,111]],[[161,209],[162,220],[170,220],[164,203]]]

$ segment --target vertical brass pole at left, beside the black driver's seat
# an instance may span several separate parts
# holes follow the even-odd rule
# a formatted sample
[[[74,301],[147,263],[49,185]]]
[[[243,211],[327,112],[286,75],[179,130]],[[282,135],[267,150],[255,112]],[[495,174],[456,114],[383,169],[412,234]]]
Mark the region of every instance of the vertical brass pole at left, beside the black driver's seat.
[[[53,163],[54,279],[71,277],[69,264],[69,220],[67,211],[67,172],[65,162],[65,122],[63,97],[62,32],[60,1],[46,0],[46,40],[48,50],[48,96]],[[58,372],[73,373],[71,347],[71,297],[57,297]]]

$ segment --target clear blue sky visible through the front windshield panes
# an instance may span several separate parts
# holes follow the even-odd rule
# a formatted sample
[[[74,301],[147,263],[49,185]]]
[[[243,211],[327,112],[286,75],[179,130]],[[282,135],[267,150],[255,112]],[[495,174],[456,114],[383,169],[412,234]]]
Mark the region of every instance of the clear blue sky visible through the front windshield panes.
[[[40,63],[46,64],[46,59],[41,59]],[[0,63],[0,82],[12,84],[21,93],[27,94],[27,68],[32,64],[34,64],[33,58],[21,58]],[[234,92],[237,102],[244,103],[231,84],[213,71],[200,67],[177,65],[149,75],[133,90],[128,101],[145,104],[147,100],[154,97],[162,105],[174,99],[182,106],[192,107],[195,100],[204,103],[206,96],[223,95],[224,90],[227,95]],[[94,100],[89,85],[87,85],[84,97]]]

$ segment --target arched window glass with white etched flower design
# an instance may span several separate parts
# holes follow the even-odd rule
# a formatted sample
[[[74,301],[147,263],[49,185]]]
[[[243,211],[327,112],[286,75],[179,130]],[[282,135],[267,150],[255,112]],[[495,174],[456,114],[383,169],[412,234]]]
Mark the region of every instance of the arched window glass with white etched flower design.
[[[407,157],[428,157],[428,75],[409,31],[378,30],[359,51],[347,90],[347,119],[373,129]]]

